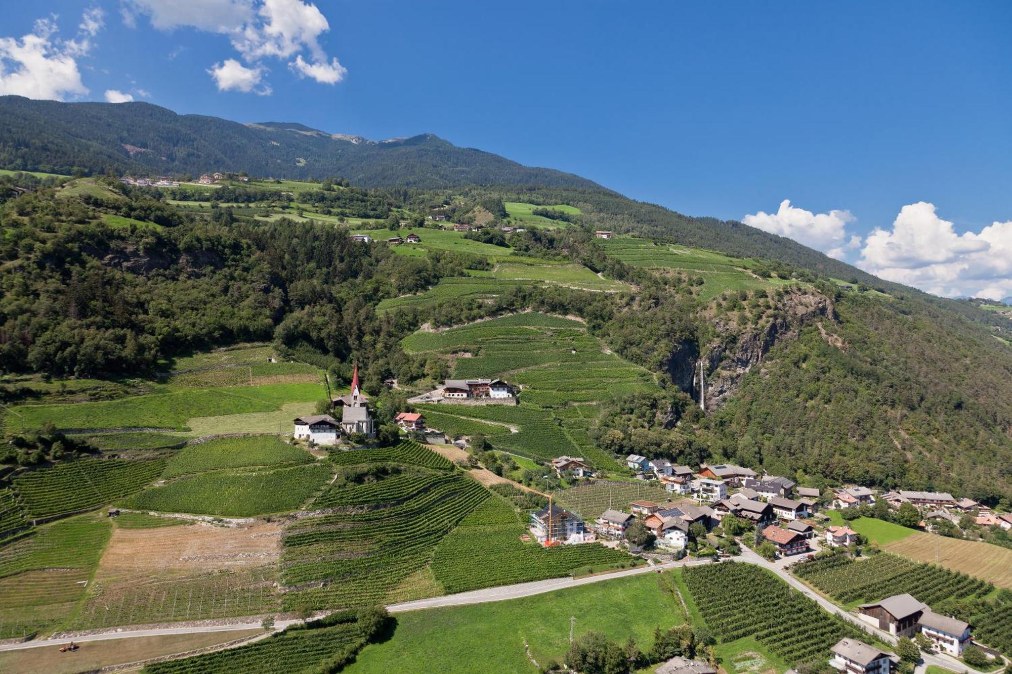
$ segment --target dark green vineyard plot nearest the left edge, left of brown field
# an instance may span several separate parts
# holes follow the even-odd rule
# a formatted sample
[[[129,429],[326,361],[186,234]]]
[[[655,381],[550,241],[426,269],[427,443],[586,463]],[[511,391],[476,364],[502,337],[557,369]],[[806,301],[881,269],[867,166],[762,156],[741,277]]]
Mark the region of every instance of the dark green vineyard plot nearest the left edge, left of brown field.
[[[79,458],[14,477],[14,490],[31,517],[59,515],[111,503],[151,484],[165,460]]]

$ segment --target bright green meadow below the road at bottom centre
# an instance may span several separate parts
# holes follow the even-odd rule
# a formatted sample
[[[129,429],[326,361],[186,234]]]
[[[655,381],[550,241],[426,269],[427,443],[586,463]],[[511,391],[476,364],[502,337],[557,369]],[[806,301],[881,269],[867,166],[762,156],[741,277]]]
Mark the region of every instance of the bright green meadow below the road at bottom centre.
[[[534,672],[524,641],[541,665],[561,661],[569,648],[570,620],[579,637],[600,631],[641,649],[654,628],[682,622],[656,574],[601,581],[522,599],[397,614],[393,639],[365,648],[344,671]]]

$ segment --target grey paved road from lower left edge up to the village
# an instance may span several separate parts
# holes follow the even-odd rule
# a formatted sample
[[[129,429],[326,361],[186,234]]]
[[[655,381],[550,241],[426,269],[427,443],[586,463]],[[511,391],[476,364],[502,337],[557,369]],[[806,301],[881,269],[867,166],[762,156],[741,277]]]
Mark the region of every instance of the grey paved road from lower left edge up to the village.
[[[441,597],[432,597],[430,599],[418,599],[416,601],[406,601],[399,604],[392,604],[387,608],[392,612],[404,612],[412,610],[420,610],[423,608],[437,608],[440,606],[462,606],[466,604],[480,604],[490,601],[505,601],[507,599],[517,599],[519,597],[529,597],[535,594],[542,594],[544,592],[554,592],[555,590],[562,590],[568,587],[577,587],[579,585],[587,585],[588,583],[599,583],[600,581],[612,580],[615,578],[625,578],[628,576],[638,576],[640,574],[646,574],[655,572],[661,569],[674,569],[680,566],[694,566],[698,564],[708,564],[707,562],[700,562],[697,560],[686,561],[686,562],[669,562],[666,564],[657,564],[654,566],[643,566],[637,567],[635,569],[625,569],[623,571],[616,571],[610,574],[601,574],[599,576],[588,576],[586,578],[556,578],[546,581],[536,581],[533,583],[520,583],[517,585],[504,585],[501,587],[491,587],[484,590],[475,590],[473,592],[460,592],[458,594],[447,594]],[[301,620],[277,620],[274,623],[274,629],[283,629],[289,624],[294,624],[301,622]],[[236,624],[210,624],[210,625],[199,625],[199,626],[187,626],[187,627],[162,627],[162,628],[152,628],[152,629],[132,629],[122,631],[107,631],[100,635],[87,635],[82,637],[74,637],[73,641],[78,644],[84,644],[87,642],[101,642],[110,639],[133,639],[137,637],[165,637],[167,635],[192,635],[198,633],[206,631],[236,631],[241,629],[260,629],[262,628],[259,622],[242,622]],[[71,638],[61,638],[61,639],[44,639],[32,642],[24,642],[21,644],[5,644],[0,646],[0,652],[3,651],[19,651],[21,649],[36,649],[43,647],[56,648],[62,644],[66,644],[71,641]]]

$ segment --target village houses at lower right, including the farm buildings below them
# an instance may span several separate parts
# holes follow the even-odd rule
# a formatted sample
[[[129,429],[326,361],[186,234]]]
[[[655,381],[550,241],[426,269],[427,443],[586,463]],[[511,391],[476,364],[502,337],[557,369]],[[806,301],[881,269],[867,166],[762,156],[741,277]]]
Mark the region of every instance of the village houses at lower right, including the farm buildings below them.
[[[530,516],[530,532],[543,544],[579,543],[601,538],[622,538],[628,526],[642,518],[655,536],[655,546],[670,552],[682,551],[688,544],[689,527],[701,524],[706,530],[721,523],[727,515],[735,515],[755,524],[762,537],[776,549],[780,557],[813,552],[814,546],[847,547],[857,542],[857,532],[849,526],[824,526],[829,518],[819,512],[821,494],[818,489],[797,487],[793,481],[722,464],[703,465],[698,472],[687,466],[673,466],[665,459],[648,459],[630,454],[628,468],[638,477],[653,479],[664,485],[675,500],[667,503],[632,501],[627,509],[605,510],[593,522],[586,523],[577,513],[550,504]],[[581,459],[561,456],[553,461],[560,475],[592,475]],[[734,493],[729,496],[729,491]],[[921,511],[925,520],[940,511],[977,513],[980,523],[1012,528],[1012,515],[994,515],[982,504],[966,498],[954,498],[943,492],[897,491],[876,494],[867,487],[846,487],[836,490],[829,503],[832,509],[871,505],[877,499],[899,508],[910,503]],[[822,529],[817,534],[817,528]],[[889,597],[857,608],[858,616],[869,624],[897,637],[924,635],[940,652],[959,657],[973,643],[969,623],[933,612],[926,604],[909,594]],[[830,664],[853,674],[889,674],[896,670],[899,658],[892,653],[853,639],[841,640],[832,649]],[[665,672],[690,674],[699,665],[690,661],[666,665]],[[661,669],[657,670],[658,672]]]

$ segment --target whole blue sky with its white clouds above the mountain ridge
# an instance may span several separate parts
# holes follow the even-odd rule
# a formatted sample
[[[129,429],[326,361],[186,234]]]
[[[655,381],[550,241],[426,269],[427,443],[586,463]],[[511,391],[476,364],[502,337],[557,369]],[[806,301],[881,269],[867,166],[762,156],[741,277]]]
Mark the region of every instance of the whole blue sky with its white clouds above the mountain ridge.
[[[997,0],[55,0],[6,3],[0,91],[431,132],[1006,297],[1009,34]]]

